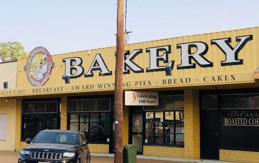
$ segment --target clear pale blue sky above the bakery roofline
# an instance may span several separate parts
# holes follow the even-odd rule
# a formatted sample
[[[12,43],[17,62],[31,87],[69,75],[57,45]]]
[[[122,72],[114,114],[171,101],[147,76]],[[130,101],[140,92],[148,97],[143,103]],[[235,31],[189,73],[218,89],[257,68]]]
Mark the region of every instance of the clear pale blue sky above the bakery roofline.
[[[115,45],[117,0],[0,0],[0,42],[51,54]],[[129,43],[259,26],[259,0],[128,0]]]

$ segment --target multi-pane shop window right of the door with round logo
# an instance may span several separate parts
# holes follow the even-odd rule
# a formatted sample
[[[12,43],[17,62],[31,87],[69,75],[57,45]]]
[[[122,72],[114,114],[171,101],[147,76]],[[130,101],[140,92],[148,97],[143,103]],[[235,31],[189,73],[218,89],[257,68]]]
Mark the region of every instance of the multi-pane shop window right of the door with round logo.
[[[159,96],[159,106],[145,106],[146,144],[184,146],[183,95]]]

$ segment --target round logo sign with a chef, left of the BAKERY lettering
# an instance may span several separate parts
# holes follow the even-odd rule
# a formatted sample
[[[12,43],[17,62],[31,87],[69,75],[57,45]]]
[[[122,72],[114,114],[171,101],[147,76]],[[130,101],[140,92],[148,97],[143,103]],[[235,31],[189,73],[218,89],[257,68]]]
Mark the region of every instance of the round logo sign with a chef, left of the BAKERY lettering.
[[[31,51],[27,64],[24,66],[24,71],[27,72],[31,85],[41,86],[48,80],[53,67],[54,63],[47,49],[37,47]]]

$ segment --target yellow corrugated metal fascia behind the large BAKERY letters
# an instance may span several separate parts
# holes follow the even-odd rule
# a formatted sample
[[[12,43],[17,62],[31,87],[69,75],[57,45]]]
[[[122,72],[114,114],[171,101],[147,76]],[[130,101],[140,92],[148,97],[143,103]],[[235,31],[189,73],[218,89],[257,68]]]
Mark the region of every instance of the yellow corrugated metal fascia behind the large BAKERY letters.
[[[213,67],[200,67],[196,64],[196,68],[193,69],[177,69],[172,71],[172,76],[195,76],[195,75],[208,75],[208,74],[221,74],[228,72],[252,72],[259,66],[259,53],[258,53],[258,27],[247,28],[247,29],[237,29],[224,32],[214,32],[200,35],[183,36],[176,38],[168,38],[162,40],[140,42],[125,45],[125,51],[129,50],[130,53],[135,49],[142,49],[142,53],[134,58],[134,62],[144,69],[144,73],[134,73],[130,70],[130,74],[124,74],[124,81],[130,80],[141,80],[141,79],[158,79],[165,78],[164,71],[158,72],[146,72],[146,68],[150,66],[149,53],[146,52],[146,48],[171,45],[171,54],[168,55],[169,61],[174,60],[174,66],[181,63],[181,51],[177,44],[187,43],[187,42],[205,42],[208,45],[207,54],[204,55],[210,62],[213,63]],[[231,38],[230,45],[235,47],[238,42],[236,42],[237,36],[243,35],[253,35],[253,40],[246,43],[242,50],[238,54],[239,59],[243,59],[242,65],[232,65],[232,66],[221,66],[221,61],[225,60],[225,54],[216,46],[211,45],[212,39],[219,38]],[[47,48],[47,47],[46,47]],[[116,47],[100,48],[86,51],[79,51],[66,54],[52,55],[52,60],[55,63],[52,72],[61,64],[63,58],[69,57],[81,57],[83,60],[82,66],[84,67],[85,73],[91,66],[92,61],[96,54],[101,54],[106,66],[112,71],[112,75],[102,76],[100,78],[99,71],[94,71],[94,77],[84,77],[82,75],[79,78],[70,79],[70,84],[85,84],[85,83],[102,83],[102,82],[113,82],[115,78],[115,51]],[[51,53],[51,51],[50,51]],[[162,52],[161,54],[162,55]],[[27,79],[26,72],[23,71],[27,60],[19,60],[18,68],[21,72],[17,74],[17,88],[30,88],[33,87]],[[192,60],[192,63],[195,63]],[[165,66],[168,63],[163,63],[159,61],[159,66]],[[62,75],[65,74],[64,63],[62,67],[59,67],[49,78],[44,86],[55,86],[64,85],[64,79]],[[100,79],[99,79],[100,78]],[[98,80],[99,79],[99,80]],[[98,80],[98,81],[97,81]]]

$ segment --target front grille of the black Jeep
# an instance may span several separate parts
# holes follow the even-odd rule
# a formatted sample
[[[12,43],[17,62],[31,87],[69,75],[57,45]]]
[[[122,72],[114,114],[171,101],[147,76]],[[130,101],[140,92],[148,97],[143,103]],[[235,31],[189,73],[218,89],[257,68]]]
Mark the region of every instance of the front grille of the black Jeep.
[[[61,153],[55,152],[31,152],[31,158],[42,160],[60,160]]]

